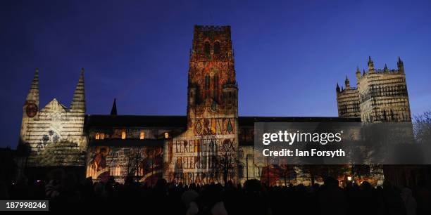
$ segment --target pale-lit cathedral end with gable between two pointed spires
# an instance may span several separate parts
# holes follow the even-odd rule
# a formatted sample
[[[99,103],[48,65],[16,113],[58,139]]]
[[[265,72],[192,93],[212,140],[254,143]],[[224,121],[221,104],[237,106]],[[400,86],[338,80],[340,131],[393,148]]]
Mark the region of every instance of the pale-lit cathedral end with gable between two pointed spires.
[[[80,72],[70,107],[56,98],[40,107],[39,70],[36,69],[23,106],[20,128],[20,147],[29,153],[26,167],[81,167],[87,148],[84,122],[84,70]]]

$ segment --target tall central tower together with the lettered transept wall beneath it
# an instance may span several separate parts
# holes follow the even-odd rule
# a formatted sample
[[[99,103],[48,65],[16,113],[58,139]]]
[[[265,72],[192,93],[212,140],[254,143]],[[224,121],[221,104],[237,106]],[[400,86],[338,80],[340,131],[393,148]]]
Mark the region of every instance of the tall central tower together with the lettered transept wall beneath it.
[[[230,26],[195,26],[187,87],[187,131],[165,144],[165,178],[237,180],[238,88]]]

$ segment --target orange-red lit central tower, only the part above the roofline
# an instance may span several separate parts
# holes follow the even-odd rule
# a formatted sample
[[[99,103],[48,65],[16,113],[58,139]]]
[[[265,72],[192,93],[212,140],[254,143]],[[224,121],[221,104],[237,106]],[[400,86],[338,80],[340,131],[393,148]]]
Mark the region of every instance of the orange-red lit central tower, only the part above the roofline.
[[[188,127],[204,110],[237,118],[237,83],[229,26],[195,26],[190,51]]]

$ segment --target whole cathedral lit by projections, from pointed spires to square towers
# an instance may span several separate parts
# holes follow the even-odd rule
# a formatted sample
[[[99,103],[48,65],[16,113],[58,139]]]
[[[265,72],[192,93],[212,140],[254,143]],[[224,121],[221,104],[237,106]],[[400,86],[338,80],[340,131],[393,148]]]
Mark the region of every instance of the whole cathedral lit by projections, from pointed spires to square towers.
[[[230,26],[194,26],[186,115],[119,115],[115,100],[109,115],[86,115],[84,74],[70,106],[54,98],[41,108],[36,70],[18,146],[28,151],[27,174],[62,167],[94,181],[275,184],[276,167],[254,159],[254,122],[411,122],[401,59],[398,70],[375,70],[370,58],[367,72],[356,71],[357,88],[347,78],[345,87],[337,84],[339,117],[239,116]],[[291,172],[289,182],[307,178],[296,167]]]

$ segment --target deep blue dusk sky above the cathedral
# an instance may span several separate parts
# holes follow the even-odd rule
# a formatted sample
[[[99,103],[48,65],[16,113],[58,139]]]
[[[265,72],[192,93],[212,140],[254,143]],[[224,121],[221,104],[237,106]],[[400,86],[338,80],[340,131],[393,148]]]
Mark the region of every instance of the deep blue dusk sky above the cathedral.
[[[1,1],[1,142],[18,143],[39,67],[40,108],[185,115],[194,25],[230,25],[239,115],[336,117],[356,66],[404,60],[413,115],[431,110],[431,1]]]

